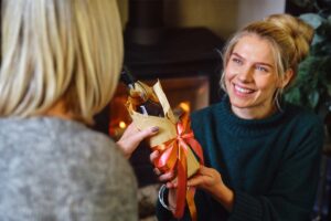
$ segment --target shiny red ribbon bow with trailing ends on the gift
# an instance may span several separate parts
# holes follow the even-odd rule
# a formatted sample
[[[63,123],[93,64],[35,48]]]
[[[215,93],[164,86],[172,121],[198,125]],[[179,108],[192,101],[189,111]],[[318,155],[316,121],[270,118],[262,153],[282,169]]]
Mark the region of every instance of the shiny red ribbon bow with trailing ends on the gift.
[[[161,171],[177,172],[177,207],[174,211],[175,218],[182,218],[185,209],[185,201],[192,220],[196,220],[196,208],[194,203],[195,188],[188,189],[188,150],[191,148],[197,156],[200,164],[203,165],[203,154],[200,144],[194,139],[193,130],[189,115],[185,114],[177,124],[178,136],[163,145],[156,148],[161,152],[160,157],[154,161],[154,166]]]

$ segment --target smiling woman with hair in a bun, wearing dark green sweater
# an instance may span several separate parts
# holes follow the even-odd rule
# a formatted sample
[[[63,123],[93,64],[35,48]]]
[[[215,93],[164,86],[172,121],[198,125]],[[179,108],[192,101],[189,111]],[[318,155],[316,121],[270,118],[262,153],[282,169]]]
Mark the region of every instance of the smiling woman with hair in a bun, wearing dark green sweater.
[[[323,127],[313,113],[284,102],[281,92],[296,78],[312,35],[301,20],[275,14],[229,40],[221,80],[227,95],[191,117],[205,158],[188,181],[197,188],[197,220],[309,220]],[[175,207],[172,178],[160,176],[169,188],[167,208]],[[158,215],[169,220],[171,212],[159,204]],[[183,220],[194,218],[186,212]]]

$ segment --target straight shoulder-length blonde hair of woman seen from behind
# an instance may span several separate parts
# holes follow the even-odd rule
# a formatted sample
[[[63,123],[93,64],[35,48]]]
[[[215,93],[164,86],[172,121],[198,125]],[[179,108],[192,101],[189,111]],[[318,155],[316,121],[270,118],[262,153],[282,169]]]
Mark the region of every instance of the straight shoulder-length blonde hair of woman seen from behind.
[[[0,116],[58,99],[85,123],[111,98],[122,64],[116,0],[3,0]]]

